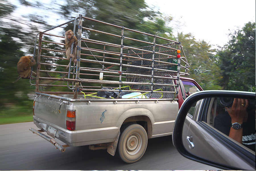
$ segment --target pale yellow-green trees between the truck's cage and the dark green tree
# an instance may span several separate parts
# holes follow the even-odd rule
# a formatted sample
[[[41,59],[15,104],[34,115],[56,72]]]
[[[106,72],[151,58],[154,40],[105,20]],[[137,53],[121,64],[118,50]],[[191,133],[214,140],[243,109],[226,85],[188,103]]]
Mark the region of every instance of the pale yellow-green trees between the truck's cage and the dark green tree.
[[[189,34],[178,34],[185,55],[190,65],[190,78],[195,79],[204,90],[219,90],[222,79],[218,66],[218,58],[214,55],[216,49],[212,49],[204,40],[196,41]]]

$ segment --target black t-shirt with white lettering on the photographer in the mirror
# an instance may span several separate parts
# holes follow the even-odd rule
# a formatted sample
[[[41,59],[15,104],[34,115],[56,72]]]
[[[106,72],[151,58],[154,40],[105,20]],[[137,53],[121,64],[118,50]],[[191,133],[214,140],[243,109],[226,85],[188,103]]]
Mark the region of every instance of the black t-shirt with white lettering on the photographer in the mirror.
[[[255,151],[254,120],[255,120],[255,117],[253,116],[253,114],[248,114],[247,122],[244,122],[242,124],[242,128],[243,128],[242,144],[253,151]],[[230,128],[231,128],[231,118],[228,112],[219,114],[218,116],[215,117],[214,128],[216,128],[223,134],[229,135]]]

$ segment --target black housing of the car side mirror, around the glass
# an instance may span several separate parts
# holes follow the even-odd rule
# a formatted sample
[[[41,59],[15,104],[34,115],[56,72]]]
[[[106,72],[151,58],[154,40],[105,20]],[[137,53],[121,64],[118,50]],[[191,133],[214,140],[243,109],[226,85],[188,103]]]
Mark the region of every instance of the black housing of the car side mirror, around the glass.
[[[219,163],[219,162],[214,162],[214,161],[210,161],[207,160],[201,156],[196,156],[192,153],[190,153],[189,151],[187,151],[187,149],[184,147],[183,142],[187,141],[184,139],[184,136],[182,136],[183,134],[183,126],[184,126],[184,122],[187,116],[187,113],[190,109],[190,107],[197,101],[201,100],[201,99],[205,99],[205,98],[210,98],[210,97],[232,97],[232,98],[241,98],[241,99],[254,99],[255,100],[255,93],[251,93],[251,92],[243,92],[243,91],[200,91],[197,93],[194,93],[192,95],[190,95],[188,98],[185,99],[185,101],[183,102],[176,121],[175,121],[175,125],[174,125],[174,129],[173,129],[173,134],[172,134],[172,138],[173,138],[173,144],[176,147],[177,151],[183,155],[184,157],[197,161],[197,162],[201,162],[203,164],[208,164],[210,166],[214,166],[217,168],[222,168],[225,170],[244,170],[244,168],[236,168],[234,166],[231,165],[227,165],[224,163]],[[190,137],[187,137],[188,139]],[[191,140],[192,141],[192,140]],[[210,154],[209,154],[210,155]],[[247,157],[248,159],[248,164],[251,168],[255,168],[255,153],[254,156],[253,154],[250,155],[249,157]],[[239,162],[239,161],[238,161]],[[247,170],[247,169],[245,169]]]

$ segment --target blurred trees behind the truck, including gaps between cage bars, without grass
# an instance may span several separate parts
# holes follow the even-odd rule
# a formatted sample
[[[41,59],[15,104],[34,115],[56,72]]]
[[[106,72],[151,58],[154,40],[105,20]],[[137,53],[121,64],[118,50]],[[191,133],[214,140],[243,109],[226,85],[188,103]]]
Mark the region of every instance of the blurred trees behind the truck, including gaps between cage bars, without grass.
[[[15,6],[15,5],[16,6]],[[15,15],[15,11],[25,8],[28,12],[22,16]],[[56,23],[49,24],[50,12],[55,13],[59,17]],[[26,113],[27,109],[31,109],[32,102],[28,99],[27,94],[33,92],[35,87],[30,86],[29,80],[20,79],[13,84],[12,82],[18,78],[16,72],[16,64],[23,55],[32,55],[34,52],[34,41],[39,31],[46,30],[57,25],[59,20],[64,22],[71,20],[82,14],[83,16],[101,20],[118,26],[124,26],[141,32],[156,34],[168,39],[181,41],[186,57],[190,65],[190,76],[195,79],[203,89],[229,89],[248,91],[254,86],[255,80],[255,23],[247,23],[245,26],[230,34],[230,41],[221,49],[213,49],[212,46],[204,40],[197,41],[190,33],[182,32],[174,37],[173,29],[168,26],[172,22],[171,16],[164,16],[159,11],[150,9],[144,0],[65,0],[51,1],[50,4],[44,1],[26,1],[17,0],[16,3],[10,3],[0,0],[0,91],[1,91],[1,107],[19,106],[24,110],[16,110],[18,113]],[[63,23],[63,22],[62,22]],[[84,20],[83,27],[109,32],[111,34],[120,35],[120,28],[113,28],[98,22]],[[62,26],[63,30],[73,30],[73,25],[68,24]],[[120,44],[120,38],[109,40],[105,35],[84,30],[83,36],[89,39],[99,39],[110,43]],[[143,41],[153,41],[153,37],[143,36],[135,32],[125,31],[124,36]],[[108,39],[108,40],[107,40]],[[44,40],[54,41],[48,36],[44,36]],[[60,43],[60,42],[58,42]],[[64,43],[63,39],[61,43]],[[167,43],[166,41],[158,41],[158,44]],[[126,40],[124,45],[139,47],[145,46],[144,43],[134,43]],[[82,43],[83,47],[102,49],[103,45]],[[63,51],[64,45],[56,45],[42,43],[42,47],[46,49],[55,49]],[[115,47],[107,47],[108,51],[120,51]],[[42,50],[42,53],[51,57],[65,57],[65,53]],[[88,54],[86,59],[94,59],[89,51],[82,50],[81,53]],[[127,52],[123,52],[127,53]],[[37,49],[36,49],[37,54]],[[93,53],[95,56],[101,53]],[[113,57],[108,55],[108,57]],[[36,58],[37,59],[37,58]],[[101,58],[98,58],[102,60]],[[50,64],[67,65],[67,61],[42,58],[41,62]],[[113,62],[112,59],[106,59],[107,62]],[[83,64],[84,67],[93,67],[94,64]],[[106,67],[109,67],[106,65]],[[117,70],[117,66],[113,66]],[[41,65],[42,70],[63,71],[65,68],[59,66]],[[35,67],[34,67],[35,70]],[[92,73],[98,74],[98,73]],[[65,73],[40,72],[40,76],[61,78]],[[95,79],[95,76],[84,76],[81,78]],[[98,77],[97,77],[98,79]],[[42,81],[40,84],[55,84],[53,81]],[[59,83],[62,84],[62,83]],[[63,83],[65,85],[66,83]],[[92,84],[94,85],[94,84]],[[253,87],[255,89],[255,87]],[[42,87],[40,91],[67,91],[67,87]],[[1,113],[6,110],[1,108]]]

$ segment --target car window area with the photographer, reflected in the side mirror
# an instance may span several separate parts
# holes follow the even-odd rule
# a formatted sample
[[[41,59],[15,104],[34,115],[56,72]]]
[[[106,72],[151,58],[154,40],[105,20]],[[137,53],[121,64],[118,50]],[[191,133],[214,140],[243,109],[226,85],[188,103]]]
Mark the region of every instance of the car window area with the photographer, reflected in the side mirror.
[[[239,110],[234,110],[233,113],[240,112],[242,114],[241,112],[244,112],[244,116],[241,125],[237,121],[234,123],[238,124],[232,127],[231,117],[233,117],[233,113],[231,110],[235,109],[234,107],[232,108],[233,103],[239,105]],[[238,99],[235,100],[234,98],[209,98],[207,101],[207,106],[209,107],[205,111],[202,110],[199,120],[204,121],[208,126],[215,128],[244,147],[255,151],[255,101],[250,100],[247,105],[241,105],[242,103],[245,103],[245,99],[241,99],[239,103]],[[244,111],[241,108],[244,108]]]

